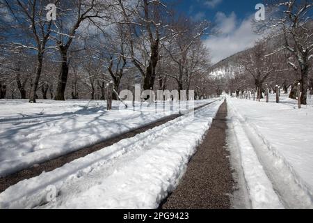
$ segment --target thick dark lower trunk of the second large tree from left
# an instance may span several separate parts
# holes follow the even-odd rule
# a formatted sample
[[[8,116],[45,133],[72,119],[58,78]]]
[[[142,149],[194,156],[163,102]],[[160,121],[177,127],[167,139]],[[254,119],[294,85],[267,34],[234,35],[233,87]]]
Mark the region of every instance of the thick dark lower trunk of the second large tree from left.
[[[58,75],[58,86],[56,87],[56,95],[54,100],[65,100],[64,93],[68,76],[67,49],[61,49],[62,64],[60,74]]]

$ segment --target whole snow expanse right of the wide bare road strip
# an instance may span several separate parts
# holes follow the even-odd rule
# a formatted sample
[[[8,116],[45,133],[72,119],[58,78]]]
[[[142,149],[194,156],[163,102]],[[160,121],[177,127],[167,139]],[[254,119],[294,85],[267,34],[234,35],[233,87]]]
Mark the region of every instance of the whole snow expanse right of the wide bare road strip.
[[[227,98],[232,155],[239,153],[252,208],[313,208],[313,106]]]

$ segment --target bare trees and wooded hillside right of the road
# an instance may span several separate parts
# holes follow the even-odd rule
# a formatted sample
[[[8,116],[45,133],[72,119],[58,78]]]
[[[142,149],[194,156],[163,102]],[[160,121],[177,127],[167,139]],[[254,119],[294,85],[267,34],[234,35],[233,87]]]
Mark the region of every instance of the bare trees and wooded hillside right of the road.
[[[254,22],[263,33],[254,47],[230,56],[214,66],[222,70],[223,84],[230,93],[255,91],[262,98],[265,89],[281,86],[296,98],[301,86],[301,104],[313,87],[313,3],[310,0],[275,0],[266,5],[266,20]]]

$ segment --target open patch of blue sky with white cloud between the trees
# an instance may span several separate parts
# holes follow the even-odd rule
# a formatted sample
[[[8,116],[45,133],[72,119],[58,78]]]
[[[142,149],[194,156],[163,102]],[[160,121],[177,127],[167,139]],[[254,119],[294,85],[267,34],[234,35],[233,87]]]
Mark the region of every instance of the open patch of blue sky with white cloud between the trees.
[[[208,37],[204,44],[209,47],[212,63],[251,47],[259,38],[252,31],[251,20],[262,0],[178,0],[181,13],[194,20],[210,20],[220,29],[217,37]]]

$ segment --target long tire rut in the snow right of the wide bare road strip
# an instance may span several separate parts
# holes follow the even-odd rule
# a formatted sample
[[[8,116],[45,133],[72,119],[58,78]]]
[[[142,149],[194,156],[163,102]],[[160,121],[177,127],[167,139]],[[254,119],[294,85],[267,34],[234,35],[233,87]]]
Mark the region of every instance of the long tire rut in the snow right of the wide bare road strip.
[[[234,106],[230,105],[230,107],[233,114],[236,114],[236,118],[232,122],[241,126],[241,135],[244,134],[248,139],[284,208],[313,208],[312,194],[309,189],[303,187],[297,174],[280,155],[275,153],[275,149],[268,146],[269,144],[266,143],[253,123],[249,123],[243,118]]]

